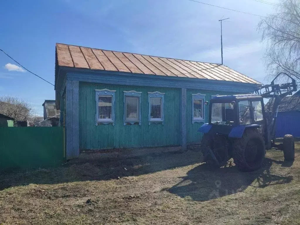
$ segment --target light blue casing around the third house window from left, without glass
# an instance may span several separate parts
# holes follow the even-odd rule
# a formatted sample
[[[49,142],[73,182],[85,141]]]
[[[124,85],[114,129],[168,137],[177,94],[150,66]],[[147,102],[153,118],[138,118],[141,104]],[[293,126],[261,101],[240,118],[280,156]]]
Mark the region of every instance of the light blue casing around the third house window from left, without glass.
[[[148,124],[151,123],[162,123],[164,125],[164,97],[165,93],[161,93],[158,91],[155,92],[148,92],[148,104],[149,104],[149,110],[148,110]],[[153,98],[153,99],[152,99]],[[158,118],[151,118],[151,104],[152,100],[160,100],[160,112],[156,113]],[[160,116],[158,116],[160,114]]]

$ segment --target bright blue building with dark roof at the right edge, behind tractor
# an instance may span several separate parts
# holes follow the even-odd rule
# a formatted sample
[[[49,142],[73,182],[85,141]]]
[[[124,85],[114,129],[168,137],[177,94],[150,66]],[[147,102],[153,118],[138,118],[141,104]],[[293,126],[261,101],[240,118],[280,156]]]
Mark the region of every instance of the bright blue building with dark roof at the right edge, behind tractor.
[[[265,109],[268,109],[268,103]],[[300,137],[300,90],[283,98],[278,107],[276,137],[283,137],[285,134]]]

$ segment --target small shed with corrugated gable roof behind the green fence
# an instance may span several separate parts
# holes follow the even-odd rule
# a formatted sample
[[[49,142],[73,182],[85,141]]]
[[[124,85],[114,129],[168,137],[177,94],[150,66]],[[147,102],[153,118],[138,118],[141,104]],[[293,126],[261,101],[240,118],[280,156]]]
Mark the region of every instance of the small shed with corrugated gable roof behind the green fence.
[[[52,127],[57,127],[59,124],[60,110],[55,106],[55,100],[45,100],[44,106],[44,121],[43,124],[48,124],[46,121],[50,121]]]

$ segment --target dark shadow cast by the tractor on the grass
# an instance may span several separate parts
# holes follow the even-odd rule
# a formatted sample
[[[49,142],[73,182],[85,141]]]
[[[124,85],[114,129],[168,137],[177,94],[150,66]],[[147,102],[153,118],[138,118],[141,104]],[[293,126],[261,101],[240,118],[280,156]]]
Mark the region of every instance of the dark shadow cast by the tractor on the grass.
[[[194,201],[207,201],[244,191],[249,186],[263,188],[291,182],[292,176],[270,172],[273,163],[282,164],[283,161],[265,158],[263,167],[253,172],[241,172],[235,166],[212,169],[204,163],[190,170],[181,182],[167,191]]]

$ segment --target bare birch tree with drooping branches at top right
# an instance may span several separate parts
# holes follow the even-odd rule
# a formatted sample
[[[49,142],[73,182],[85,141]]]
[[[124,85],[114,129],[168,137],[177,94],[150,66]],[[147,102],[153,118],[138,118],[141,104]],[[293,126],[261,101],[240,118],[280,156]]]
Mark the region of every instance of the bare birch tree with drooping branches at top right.
[[[300,0],[279,1],[276,13],[263,18],[258,30],[267,44],[263,60],[269,76],[285,72],[300,81]]]

